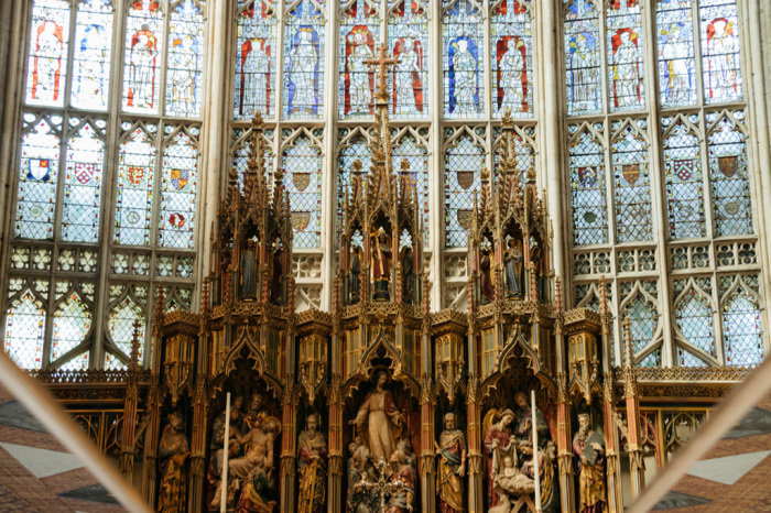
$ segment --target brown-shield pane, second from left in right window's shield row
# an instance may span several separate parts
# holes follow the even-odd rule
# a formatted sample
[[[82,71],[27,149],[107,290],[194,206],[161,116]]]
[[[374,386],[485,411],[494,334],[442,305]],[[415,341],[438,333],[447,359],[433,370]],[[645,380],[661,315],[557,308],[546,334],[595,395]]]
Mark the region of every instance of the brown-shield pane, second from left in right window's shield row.
[[[653,238],[648,148],[631,127],[613,143],[613,204],[618,242]]]

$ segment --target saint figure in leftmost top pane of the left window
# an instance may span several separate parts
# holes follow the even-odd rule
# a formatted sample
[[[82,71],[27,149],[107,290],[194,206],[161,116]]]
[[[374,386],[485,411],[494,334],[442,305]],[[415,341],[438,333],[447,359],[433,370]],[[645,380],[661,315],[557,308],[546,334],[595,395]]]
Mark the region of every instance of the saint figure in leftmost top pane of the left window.
[[[46,21],[37,28],[35,48],[35,73],[32,97],[36,100],[57,101],[61,87],[62,56],[64,40],[62,28]]]

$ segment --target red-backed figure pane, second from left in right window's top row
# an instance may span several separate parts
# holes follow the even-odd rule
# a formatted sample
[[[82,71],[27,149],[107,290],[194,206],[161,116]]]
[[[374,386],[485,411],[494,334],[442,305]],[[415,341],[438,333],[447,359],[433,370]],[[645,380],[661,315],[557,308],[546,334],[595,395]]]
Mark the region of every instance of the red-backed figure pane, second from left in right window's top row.
[[[639,0],[612,0],[606,18],[610,110],[645,107],[642,15]]]

